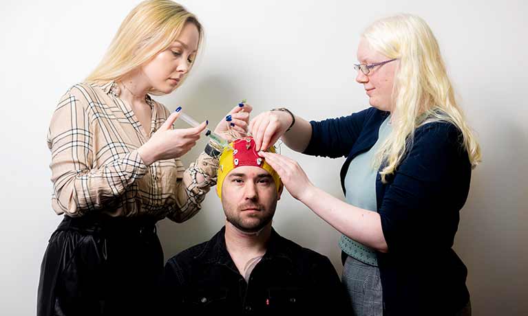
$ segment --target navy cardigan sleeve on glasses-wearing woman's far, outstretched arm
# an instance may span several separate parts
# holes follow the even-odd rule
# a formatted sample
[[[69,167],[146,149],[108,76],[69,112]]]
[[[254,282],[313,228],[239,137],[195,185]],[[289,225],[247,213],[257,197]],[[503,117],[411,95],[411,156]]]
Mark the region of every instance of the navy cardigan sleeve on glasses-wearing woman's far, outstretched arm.
[[[348,155],[354,145],[366,117],[374,108],[369,108],[352,115],[342,116],[323,121],[310,121],[312,137],[304,154],[339,158]]]

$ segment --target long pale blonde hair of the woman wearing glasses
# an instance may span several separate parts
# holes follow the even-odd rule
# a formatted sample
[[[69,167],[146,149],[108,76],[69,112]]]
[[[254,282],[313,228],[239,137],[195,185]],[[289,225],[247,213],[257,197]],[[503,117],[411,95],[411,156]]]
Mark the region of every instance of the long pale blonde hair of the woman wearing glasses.
[[[475,168],[481,149],[456,103],[439,45],[427,23],[419,16],[398,14],[375,21],[362,36],[372,49],[399,59],[392,89],[392,132],[374,159],[374,166],[383,165],[382,181],[405,157],[416,128],[430,122],[450,122],[460,129]]]

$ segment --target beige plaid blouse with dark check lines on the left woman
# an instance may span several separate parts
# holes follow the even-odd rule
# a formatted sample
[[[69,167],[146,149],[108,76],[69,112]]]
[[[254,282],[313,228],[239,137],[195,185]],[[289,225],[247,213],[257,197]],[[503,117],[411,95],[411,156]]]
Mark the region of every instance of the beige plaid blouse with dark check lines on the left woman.
[[[180,159],[145,166],[137,149],[147,136],[119,93],[115,82],[82,83],[59,101],[47,135],[53,209],[69,216],[103,212],[187,221],[215,185],[218,160],[202,153],[187,170]],[[170,113],[149,95],[145,100],[152,111],[151,135]],[[197,174],[205,180],[198,183]]]

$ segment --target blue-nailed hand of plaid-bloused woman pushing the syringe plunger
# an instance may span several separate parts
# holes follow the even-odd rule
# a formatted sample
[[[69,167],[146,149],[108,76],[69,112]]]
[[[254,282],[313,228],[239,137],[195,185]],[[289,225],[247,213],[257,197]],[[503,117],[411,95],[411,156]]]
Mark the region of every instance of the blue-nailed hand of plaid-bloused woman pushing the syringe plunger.
[[[192,128],[172,128],[180,112],[174,112],[163,125],[152,134],[148,142],[138,148],[138,153],[145,165],[149,166],[154,161],[174,159],[185,155],[196,145],[200,133],[204,131],[207,122]]]

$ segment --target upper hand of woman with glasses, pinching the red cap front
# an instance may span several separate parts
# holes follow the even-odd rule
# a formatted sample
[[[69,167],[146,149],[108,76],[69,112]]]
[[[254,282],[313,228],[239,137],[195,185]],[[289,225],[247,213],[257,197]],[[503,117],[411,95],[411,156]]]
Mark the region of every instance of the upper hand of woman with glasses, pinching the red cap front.
[[[267,111],[255,116],[249,123],[249,131],[255,139],[255,150],[266,150],[275,144],[291,123],[291,115],[284,111]]]

